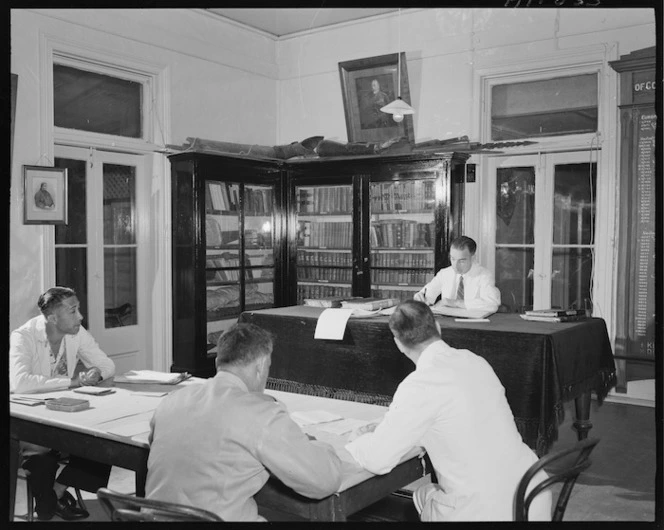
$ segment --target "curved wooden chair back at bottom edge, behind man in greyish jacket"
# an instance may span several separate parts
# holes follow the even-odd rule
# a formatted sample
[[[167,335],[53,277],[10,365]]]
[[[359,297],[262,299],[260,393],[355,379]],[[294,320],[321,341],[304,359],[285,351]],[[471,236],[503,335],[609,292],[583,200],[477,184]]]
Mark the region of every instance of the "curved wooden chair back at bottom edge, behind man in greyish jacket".
[[[118,493],[107,488],[99,488],[97,490],[97,498],[111,518],[111,521],[223,521],[217,514],[202,510],[201,508],[134,497],[133,495]]]

